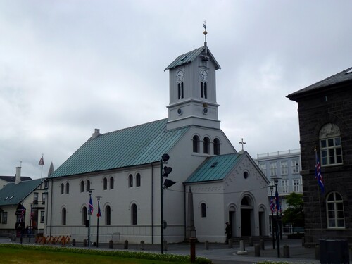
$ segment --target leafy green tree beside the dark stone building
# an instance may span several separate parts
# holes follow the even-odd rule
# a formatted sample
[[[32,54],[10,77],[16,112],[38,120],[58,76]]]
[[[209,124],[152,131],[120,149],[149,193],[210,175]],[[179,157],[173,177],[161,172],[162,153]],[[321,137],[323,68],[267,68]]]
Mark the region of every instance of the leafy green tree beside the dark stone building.
[[[284,224],[291,223],[292,227],[303,227],[303,194],[296,194],[295,192],[293,192],[289,196],[287,196],[286,202],[289,207],[284,210],[282,222]]]

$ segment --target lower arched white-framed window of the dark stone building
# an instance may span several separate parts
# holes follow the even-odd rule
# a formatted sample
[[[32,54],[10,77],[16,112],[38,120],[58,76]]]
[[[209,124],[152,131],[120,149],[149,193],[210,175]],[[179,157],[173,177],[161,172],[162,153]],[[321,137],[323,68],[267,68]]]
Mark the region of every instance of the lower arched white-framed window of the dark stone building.
[[[345,227],[344,201],[335,191],[327,196],[327,227]]]

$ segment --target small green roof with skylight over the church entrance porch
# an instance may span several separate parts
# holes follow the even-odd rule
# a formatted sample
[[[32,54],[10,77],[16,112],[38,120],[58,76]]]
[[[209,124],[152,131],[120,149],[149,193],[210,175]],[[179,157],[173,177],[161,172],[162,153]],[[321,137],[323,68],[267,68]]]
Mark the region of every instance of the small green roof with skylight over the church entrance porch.
[[[185,182],[223,180],[239,163],[242,156],[241,153],[231,153],[207,158]]]

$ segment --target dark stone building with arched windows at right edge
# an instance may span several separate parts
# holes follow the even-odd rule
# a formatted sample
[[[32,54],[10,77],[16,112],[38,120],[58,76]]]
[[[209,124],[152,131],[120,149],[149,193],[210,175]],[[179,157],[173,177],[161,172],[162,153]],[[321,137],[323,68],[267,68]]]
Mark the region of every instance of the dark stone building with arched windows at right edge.
[[[352,68],[287,97],[298,103],[306,243],[351,243]],[[324,191],[315,179],[317,160]]]

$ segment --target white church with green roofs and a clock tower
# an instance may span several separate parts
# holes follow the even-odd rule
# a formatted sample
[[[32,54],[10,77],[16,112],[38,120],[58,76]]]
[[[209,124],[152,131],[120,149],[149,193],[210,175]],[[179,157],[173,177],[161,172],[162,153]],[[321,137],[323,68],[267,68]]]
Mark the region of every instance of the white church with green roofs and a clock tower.
[[[196,230],[191,235],[199,241],[223,243],[225,222],[233,237],[268,236],[270,182],[220,130],[218,69],[205,42],[165,69],[170,73],[168,118],[107,133],[96,129],[48,178],[44,235],[87,238],[90,191],[91,241],[97,233],[101,242],[112,234],[115,241],[130,243],[160,244],[162,236],[168,243],[184,241],[190,235],[190,212]],[[162,162],[165,153],[167,163]],[[164,172],[170,172],[168,177]],[[166,189],[170,182],[164,180],[175,184]],[[167,223],[163,234],[162,219]]]

